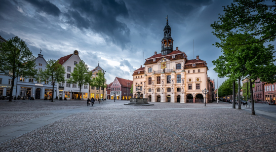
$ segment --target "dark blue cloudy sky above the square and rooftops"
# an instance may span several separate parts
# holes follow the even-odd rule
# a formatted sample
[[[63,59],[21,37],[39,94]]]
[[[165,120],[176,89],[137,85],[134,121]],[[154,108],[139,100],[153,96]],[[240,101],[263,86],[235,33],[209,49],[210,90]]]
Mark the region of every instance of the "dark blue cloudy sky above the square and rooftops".
[[[188,59],[199,55],[208,63],[208,77],[216,79],[212,60],[221,55],[212,46],[219,40],[210,24],[232,1],[100,1],[100,0],[0,0],[0,35],[23,39],[34,56],[59,59],[79,51],[93,69],[106,70],[107,83],[115,77],[132,80],[132,71],[154,51],[161,53],[166,16],[172,28],[174,49]],[[219,79],[221,84],[224,79]]]

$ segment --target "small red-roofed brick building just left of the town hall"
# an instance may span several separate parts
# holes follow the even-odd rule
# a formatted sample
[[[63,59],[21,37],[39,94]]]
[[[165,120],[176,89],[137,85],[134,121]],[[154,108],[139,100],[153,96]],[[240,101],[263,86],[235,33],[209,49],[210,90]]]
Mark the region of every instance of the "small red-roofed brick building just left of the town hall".
[[[115,95],[116,100],[130,100],[132,97],[132,93],[130,93],[132,83],[131,80],[116,77],[110,86],[110,98],[114,99]]]

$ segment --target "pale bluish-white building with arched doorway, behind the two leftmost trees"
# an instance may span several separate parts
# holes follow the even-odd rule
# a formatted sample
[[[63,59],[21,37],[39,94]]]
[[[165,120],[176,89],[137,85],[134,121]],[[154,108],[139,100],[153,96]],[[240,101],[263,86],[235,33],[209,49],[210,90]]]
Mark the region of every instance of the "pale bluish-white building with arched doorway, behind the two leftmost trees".
[[[46,64],[47,61],[44,59],[42,54],[38,54],[38,57],[35,58],[35,69],[38,70],[45,70],[46,69]],[[57,85],[53,86],[47,82],[38,82],[35,81],[32,78],[23,78],[23,77],[18,77],[15,80],[15,83],[17,83],[17,91],[16,91],[16,96],[20,97],[34,97],[35,99],[45,99],[50,97],[56,98],[56,93],[57,92]]]

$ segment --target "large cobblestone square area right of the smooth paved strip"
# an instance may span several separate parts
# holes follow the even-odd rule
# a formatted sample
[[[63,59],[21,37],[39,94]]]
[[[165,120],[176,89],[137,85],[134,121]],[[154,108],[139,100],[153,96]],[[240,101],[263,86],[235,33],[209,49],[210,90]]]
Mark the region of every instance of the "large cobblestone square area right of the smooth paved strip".
[[[275,122],[230,104],[125,102],[82,104],[0,151],[276,151]]]

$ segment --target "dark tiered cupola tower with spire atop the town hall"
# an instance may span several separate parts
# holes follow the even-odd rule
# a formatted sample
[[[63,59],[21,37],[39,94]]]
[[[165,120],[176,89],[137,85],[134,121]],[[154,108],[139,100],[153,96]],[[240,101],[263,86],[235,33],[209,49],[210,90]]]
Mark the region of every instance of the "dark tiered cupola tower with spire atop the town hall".
[[[162,55],[167,55],[173,51],[173,38],[171,37],[171,27],[168,25],[168,15],[166,17],[167,19],[167,25],[164,28],[164,37],[162,39],[162,49],[161,53]]]

